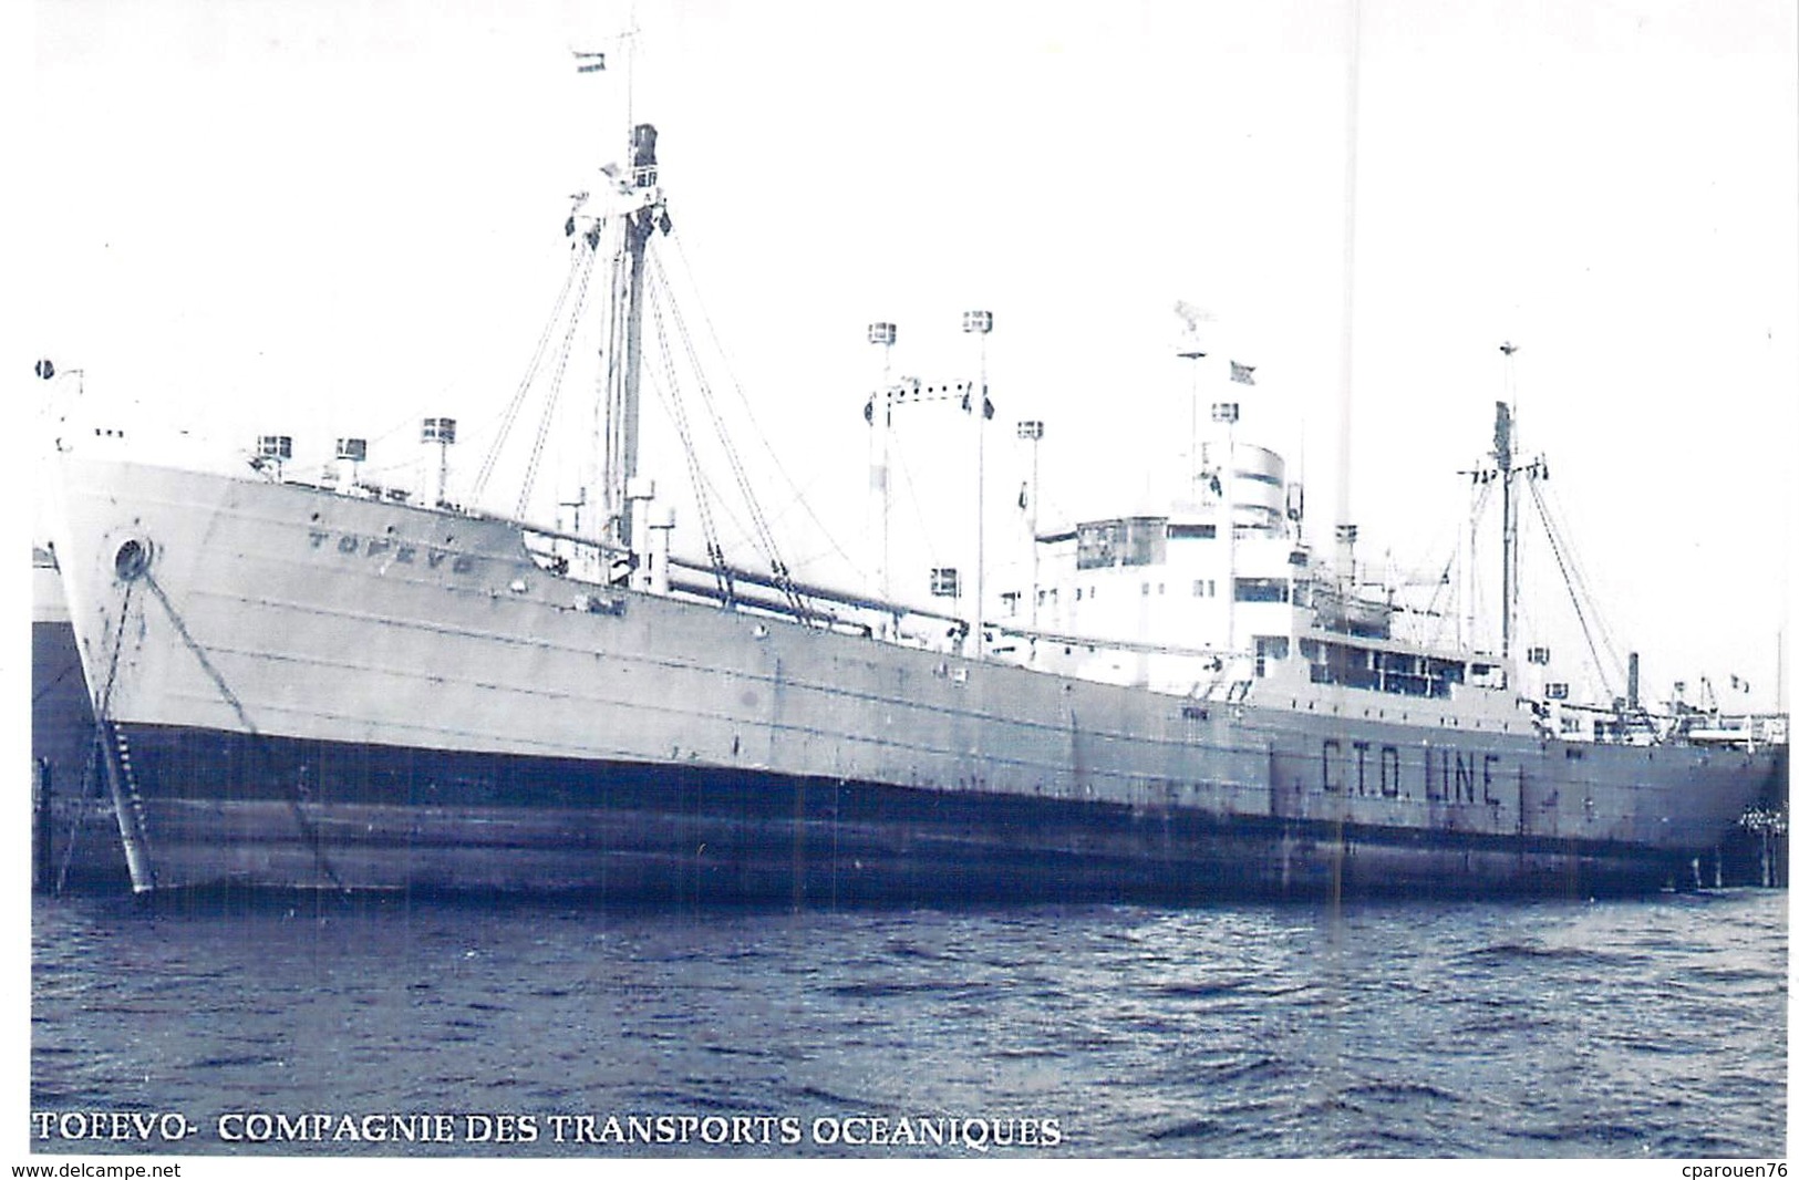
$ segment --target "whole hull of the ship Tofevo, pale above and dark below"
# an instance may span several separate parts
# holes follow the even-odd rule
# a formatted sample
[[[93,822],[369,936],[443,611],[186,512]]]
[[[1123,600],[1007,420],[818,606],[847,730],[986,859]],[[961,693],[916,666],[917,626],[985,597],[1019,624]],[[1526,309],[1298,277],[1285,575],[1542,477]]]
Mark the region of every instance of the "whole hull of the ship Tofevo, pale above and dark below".
[[[67,531],[139,890],[1585,896],[1693,883],[1785,773],[595,590],[502,522],[293,486],[72,464]]]

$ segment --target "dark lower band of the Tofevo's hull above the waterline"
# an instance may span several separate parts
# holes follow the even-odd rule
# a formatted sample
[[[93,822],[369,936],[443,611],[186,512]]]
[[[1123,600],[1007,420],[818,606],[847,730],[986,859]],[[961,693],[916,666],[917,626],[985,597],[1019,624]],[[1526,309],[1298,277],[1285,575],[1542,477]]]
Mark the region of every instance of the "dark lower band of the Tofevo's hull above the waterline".
[[[658,903],[1594,896],[1693,885],[1630,845],[133,727],[137,887]],[[1705,881],[1709,883],[1709,881]]]

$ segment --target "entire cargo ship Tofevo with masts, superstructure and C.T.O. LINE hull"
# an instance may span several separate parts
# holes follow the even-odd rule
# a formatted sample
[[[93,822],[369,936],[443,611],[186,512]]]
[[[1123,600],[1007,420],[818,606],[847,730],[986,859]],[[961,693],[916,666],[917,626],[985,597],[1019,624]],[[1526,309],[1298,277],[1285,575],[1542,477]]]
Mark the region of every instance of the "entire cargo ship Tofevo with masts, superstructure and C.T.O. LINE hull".
[[[1540,471],[1506,403],[1475,473],[1506,520],[1491,651],[1401,635],[1353,527],[1331,561],[1304,543],[1283,455],[1238,437],[1252,371],[1202,347],[1223,392],[1204,444],[1195,399],[1182,491],[1033,518],[1004,594],[979,558],[971,594],[934,570],[930,606],[885,592],[885,558],[865,590],[808,585],[772,545],[727,563],[703,520],[705,556],[678,556],[637,471],[655,139],[563,225],[579,290],[610,272],[603,453],[568,518],[450,504],[441,473],[302,480],[282,437],[236,475],[59,442],[56,558],[133,890],[1585,898],[1705,883],[1740,817],[1783,806],[1783,716],[1531,676],[1509,540]],[[871,453],[932,399],[982,430],[984,372],[883,381]]]

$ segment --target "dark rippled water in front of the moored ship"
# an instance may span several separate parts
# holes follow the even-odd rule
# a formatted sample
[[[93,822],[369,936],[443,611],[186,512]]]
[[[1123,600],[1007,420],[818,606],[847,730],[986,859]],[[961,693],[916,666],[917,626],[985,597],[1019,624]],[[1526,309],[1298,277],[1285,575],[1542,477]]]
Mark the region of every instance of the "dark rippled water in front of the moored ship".
[[[1061,1155],[1779,1158],[1786,894],[847,914],[38,898],[31,1036],[34,1108],[201,1126],[248,1101],[1029,1115],[1058,1119]]]

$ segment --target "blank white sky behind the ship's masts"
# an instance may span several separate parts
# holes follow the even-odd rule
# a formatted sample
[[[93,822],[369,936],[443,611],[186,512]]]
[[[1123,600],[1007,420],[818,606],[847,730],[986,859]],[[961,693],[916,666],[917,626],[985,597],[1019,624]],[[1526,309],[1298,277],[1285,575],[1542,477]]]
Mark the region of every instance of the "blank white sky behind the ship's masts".
[[[1173,306],[1204,308],[1214,356],[1256,365],[1245,430],[1304,478],[1317,541],[1347,340],[1347,516],[1365,556],[1421,568],[1468,514],[1455,473],[1491,446],[1515,342],[1520,450],[1646,684],[1736,675],[1729,703],[1774,705],[1799,437],[1783,0],[68,0],[23,22],[20,426],[68,394],[31,372],[52,358],[88,412],[227,455],[363,435],[398,471],[448,414],[466,478],[628,106],[662,131],[669,268],[802,572],[865,570],[874,320],[900,326],[896,372],[966,380],[961,315],[991,309],[995,502],[1034,417],[1042,511],[1078,520],[1184,462]],[[576,76],[576,49],[612,68]],[[921,486],[966,477],[966,426],[908,432]],[[678,502],[678,460],[651,459]]]

